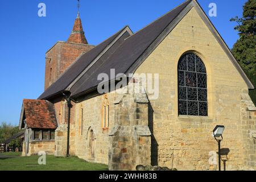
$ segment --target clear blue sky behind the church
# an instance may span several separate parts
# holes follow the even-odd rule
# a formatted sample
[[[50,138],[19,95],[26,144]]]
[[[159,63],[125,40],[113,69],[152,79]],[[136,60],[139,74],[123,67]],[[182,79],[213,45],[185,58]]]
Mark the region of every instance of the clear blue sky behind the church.
[[[136,32],[184,0],[81,0],[80,17],[89,44],[97,45],[125,25]],[[46,4],[39,18],[38,4]],[[246,0],[199,0],[232,48],[238,39],[230,18],[242,15]],[[45,53],[58,40],[67,40],[77,13],[76,0],[13,0],[0,2],[0,122],[18,125],[23,98],[38,98],[44,90]]]

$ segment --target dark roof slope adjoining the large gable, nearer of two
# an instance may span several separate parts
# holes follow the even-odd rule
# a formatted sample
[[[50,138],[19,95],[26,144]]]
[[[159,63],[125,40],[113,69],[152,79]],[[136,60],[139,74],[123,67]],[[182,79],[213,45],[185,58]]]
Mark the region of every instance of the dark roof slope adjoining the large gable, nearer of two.
[[[101,80],[97,80],[100,73],[106,73],[110,78],[110,69],[115,69],[115,74],[126,73],[127,70],[138,60],[139,56],[154,42],[164,29],[176,18],[177,15],[190,3],[186,1],[169,13],[155,20],[142,30],[125,39],[117,49],[104,60],[104,63],[96,62],[89,69],[86,76],[81,77],[71,88],[71,96],[79,96],[87,90],[96,87]],[[91,73],[89,73],[91,72]]]

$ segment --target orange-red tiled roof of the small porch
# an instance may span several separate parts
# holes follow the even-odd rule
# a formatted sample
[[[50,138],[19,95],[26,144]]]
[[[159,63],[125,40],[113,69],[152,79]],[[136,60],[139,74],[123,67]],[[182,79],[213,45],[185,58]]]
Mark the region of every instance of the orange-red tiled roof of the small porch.
[[[57,128],[55,107],[51,102],[25,99],[23,100],[23,110],[21,119],[26,119],[28,128]]]

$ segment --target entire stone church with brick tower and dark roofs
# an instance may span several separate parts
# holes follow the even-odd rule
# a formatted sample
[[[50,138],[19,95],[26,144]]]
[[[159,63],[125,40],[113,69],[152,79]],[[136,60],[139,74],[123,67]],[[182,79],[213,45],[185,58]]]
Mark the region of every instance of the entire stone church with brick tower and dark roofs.
[[[110,77],[108,92],[98,92],[101,74]],[[157,75],[157,97],[142,74]],[[108,87],[119,84],[117,75],[126,84]],[[37,100],[23,101],[24,156],[76,155],[111,170],[214,170],[212,132],[224,125],[222,169],[256,169],[254,86],[195,0],[138,32],[125,26],[98,46],[88,44],[78,14],[67,42],[46,52],[44,86]]]

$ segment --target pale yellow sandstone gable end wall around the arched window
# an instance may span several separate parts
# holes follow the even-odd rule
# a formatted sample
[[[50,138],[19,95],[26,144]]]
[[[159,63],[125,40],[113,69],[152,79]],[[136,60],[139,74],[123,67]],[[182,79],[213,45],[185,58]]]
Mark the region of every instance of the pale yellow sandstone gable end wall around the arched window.
[[[186,51],[199,55],[207,68],[208,117],[178,115],[177,63]],[[226,169],[243,169],[249,163],[255,168],[255,160],[251,162],[255,159],[255,144],[248,143],[253,139],[247,133],[250,128],[255,130],[255,117],[241,101],[247,86],[194,8],[135,73],[159,73],[159,98],[150,100],[153,165],[179,170],[216,169],[208,162],[209,152],[217,151],[211,135],[216,125],[224,125],[221,144],[229,150]]]

